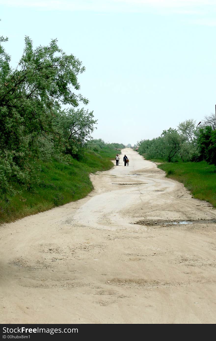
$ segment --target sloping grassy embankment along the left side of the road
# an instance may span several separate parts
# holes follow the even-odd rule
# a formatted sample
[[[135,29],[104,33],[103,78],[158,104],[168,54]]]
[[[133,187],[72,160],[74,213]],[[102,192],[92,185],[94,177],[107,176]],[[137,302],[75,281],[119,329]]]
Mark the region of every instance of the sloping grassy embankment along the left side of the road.
[[[107,148],[101,149],[99,153],[86,151],[80,161],[71,158],[70,165],[54,159],[52,162],[41,163],[38,186],[31,192],[21,186],[17,187],[21,193],[12,197],[8,204],[0,200],[0,223],[14,221],[85,197],[93,189],[89,174],[112,168],[111,160],[115,159],[117,152]]]

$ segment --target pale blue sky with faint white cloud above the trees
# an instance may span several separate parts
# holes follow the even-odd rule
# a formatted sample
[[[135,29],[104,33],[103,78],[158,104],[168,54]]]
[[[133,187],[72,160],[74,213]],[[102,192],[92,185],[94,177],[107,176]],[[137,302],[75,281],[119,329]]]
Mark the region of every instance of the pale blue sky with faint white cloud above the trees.
[[[134,144],[215,112],[216,0],[0,0],[0,18],[13,66],[25,35],[83,62],[95,138]]]

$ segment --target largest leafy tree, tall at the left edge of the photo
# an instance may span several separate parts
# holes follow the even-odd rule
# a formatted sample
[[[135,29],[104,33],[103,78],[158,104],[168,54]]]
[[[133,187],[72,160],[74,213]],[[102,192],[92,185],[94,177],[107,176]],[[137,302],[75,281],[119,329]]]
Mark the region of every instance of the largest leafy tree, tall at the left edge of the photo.
[[[53,119],[60,104],[87,104],[78,90],[79,73],[85,68],[66,55],[52,40],[33,49],[25,39],[23,56],[15,70],[0,38],[0,191],[12,194],[11,180],[30,186],[40,134],[56,134]]]

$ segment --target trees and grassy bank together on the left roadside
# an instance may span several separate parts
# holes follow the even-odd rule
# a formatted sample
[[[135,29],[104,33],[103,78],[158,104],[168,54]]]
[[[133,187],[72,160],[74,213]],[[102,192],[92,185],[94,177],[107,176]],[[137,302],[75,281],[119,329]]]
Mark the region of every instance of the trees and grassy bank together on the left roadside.
[[[80,94],[79,59],[57,40],[34,49],[26,37],[12,69],[7,40],[0,37],[0,222],[84,197],[93,188],[89,173],[110,169],[124,148],[92,139],[97,120],[80,107],[88,99]]]

